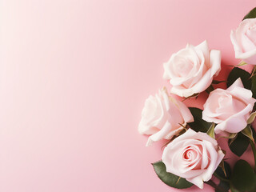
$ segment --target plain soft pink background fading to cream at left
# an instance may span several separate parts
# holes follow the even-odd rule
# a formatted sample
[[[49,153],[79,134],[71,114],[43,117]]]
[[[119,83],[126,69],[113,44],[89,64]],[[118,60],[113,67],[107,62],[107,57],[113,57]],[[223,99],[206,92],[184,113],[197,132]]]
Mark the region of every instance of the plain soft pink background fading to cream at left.
[[[254,6],[0,1],[0,191],[178,191],[150,165],[162,143],[146,147],[138,134],[144,101],[166,85],[162,63],[187,42],[207,39],[224,69],[238,64],[230,30]]]

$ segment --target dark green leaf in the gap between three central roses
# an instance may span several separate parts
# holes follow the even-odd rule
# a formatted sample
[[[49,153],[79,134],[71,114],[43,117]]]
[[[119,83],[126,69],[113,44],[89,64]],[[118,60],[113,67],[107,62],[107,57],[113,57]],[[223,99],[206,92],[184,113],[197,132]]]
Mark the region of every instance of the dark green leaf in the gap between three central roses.
[[[211,122],[202,120],[202,110],[194,107],[190,107],[190,112],[194,117],[194,122],[189,122],[189,126],[194,131],[200,131],[206,133],[211,125]]]

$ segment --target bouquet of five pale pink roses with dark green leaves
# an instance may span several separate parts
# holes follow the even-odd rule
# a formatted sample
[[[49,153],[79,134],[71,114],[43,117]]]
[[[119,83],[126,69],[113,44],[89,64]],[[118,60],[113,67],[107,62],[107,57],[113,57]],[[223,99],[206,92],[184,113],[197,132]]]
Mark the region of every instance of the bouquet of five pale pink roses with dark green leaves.
[[[146,146],[168,140],[162,160],[152,165],[158,178],[169,186],[202,189],[206,182],[215,191],[256,191],[256,134],[252,126],[256,117],[256,7],[231,31],[230,38],[235,58],[242,62],[226,81],[214,80],[221,70],[219,50],[210,50],[206,41],[187,45],[163,65],[170,91],[163,88],[146,99],[138,131],[150,135]],[[239,68],[247,64],[254,65],[251,73]],[[214,89],[224,82],[226,90]],[[194,98],[203,91],[209,94],[203,110],[188,108],[171,96]],[[238,157],[250,145],[254,165],[239,159],[231,169],[218,138],[226,138],[230,151]]]

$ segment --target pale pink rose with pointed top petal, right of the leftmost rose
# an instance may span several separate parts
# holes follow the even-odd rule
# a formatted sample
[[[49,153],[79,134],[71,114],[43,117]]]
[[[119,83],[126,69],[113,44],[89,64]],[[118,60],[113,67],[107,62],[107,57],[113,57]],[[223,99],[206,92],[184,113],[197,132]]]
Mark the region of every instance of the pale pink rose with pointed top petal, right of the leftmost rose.
[[[238,133],[246,128],[255,101],[251,90],[246,90],[238,78],[228,89],[210,93],[202,119],[218,124],[214,129],[216,134]]]

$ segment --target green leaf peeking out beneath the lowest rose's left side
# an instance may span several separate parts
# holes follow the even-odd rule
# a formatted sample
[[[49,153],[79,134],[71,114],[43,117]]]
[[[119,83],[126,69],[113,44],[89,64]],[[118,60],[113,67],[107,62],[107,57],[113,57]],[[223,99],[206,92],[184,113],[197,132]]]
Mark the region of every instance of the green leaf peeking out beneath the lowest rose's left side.
[[[162,162],[152,163],[154,171],[158,175],[158,178],[168,186],[172,186],[177,189],[185,189],[193,186],[192,183],[187,182],[185,178],[180,178],[177,175],[166,172],[166,165]]]

